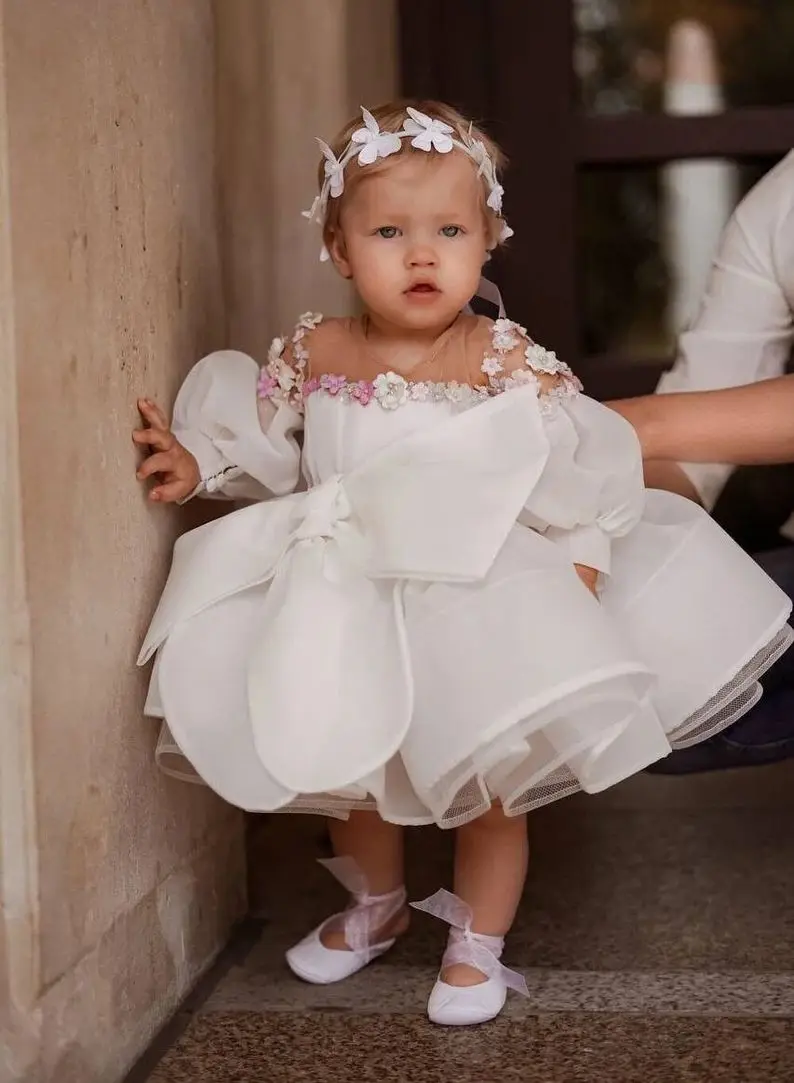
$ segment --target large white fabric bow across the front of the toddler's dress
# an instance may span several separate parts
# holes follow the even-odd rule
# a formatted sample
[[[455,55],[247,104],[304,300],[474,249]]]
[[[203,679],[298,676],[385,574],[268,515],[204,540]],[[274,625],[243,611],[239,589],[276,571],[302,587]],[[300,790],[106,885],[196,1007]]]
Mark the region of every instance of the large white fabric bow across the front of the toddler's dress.
[[[278,791],[273,801],[339,791],[382,767],[413,710],[404,582],[482,579],[548,452],[535,391],[524,387],[416,432],[344,477],[180,538],[139,658],[160,649],[162,707],[180,745],[192,725],[178,717],[188,700],[182,692],[201,679],[185,654],[191,622],[258,589],[247,709],[252,751]],[[213,784],[212,762],[194,766]]]

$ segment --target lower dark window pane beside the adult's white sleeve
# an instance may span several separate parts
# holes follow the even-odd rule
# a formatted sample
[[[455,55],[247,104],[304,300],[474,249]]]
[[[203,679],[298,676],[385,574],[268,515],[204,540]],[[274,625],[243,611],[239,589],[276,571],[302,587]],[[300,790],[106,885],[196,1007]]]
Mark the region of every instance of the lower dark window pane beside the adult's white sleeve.
[[[585,356],[674,353],[698,311],[728,217],[772,165],[675,161],[580,174]]]

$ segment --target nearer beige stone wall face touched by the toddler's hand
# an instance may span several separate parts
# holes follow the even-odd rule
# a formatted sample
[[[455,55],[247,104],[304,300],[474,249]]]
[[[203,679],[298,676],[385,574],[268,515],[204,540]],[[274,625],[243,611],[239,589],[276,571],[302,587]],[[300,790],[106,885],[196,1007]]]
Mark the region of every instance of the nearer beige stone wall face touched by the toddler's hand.
[[[136,491],[135,396],[225,341],[211,3],[5,0],[3,34],[40,880],[19,1008],[30,1080],[104,1083],[244,906],[240,818],[155,772],[133,667],[179,525]]]

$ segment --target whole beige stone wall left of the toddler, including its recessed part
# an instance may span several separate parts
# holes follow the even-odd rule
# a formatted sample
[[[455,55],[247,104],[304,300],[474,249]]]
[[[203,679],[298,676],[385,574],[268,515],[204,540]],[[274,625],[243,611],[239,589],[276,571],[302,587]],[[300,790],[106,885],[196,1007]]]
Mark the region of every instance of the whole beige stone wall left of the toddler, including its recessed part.
[[[244,909],[240,817],[153,769],[132,662],[184,520],[129,430],[206,351],[350,305],[300,211],[393,24],[0,0],[0,1083],[116,1083]]]

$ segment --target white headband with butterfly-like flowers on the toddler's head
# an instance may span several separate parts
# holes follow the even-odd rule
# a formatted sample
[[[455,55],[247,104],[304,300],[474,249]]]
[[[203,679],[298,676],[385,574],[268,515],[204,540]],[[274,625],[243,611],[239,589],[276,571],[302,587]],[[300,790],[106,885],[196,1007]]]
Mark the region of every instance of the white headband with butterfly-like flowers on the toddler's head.
[[[378,158],[388,158],[391,154],[398,154],[402,147],[404,139],[411,140],[411,145],[417,151],[426,151],[428,154],[435,151],[438,154],[448,154],[453,148],[463,151],[477,165],[477,172],[482,177],[487,188],[487,206],[502,221],[502,232],[499,242],[507,240],[512,236],[512,230],[507,224],[502,214],[502,197],[505,190],[499,184],[496,177],[496,167],[491,159],[491,155],[485,148],[485,144],[471,134],[472,125],[469,125],[468,132],[456,132],[451,125],[443,120],[428,117],[418,109],[411,106],[406,109],[406,117],[403,127],[399,132],[381,132],[380,126],[375,117],[362,106],[362,117],[364,127],[356,129],[342,154],[337,158],[327,143],[322,139],[317,140],[320,148],[325,158],[325,180],[310,210],[303,211],[303,217],[310,222],[323,225],[328,199],[338,199],[344,192],[344,170],[353,160],[359,159],[360,166],[372,166]],[[328,249],[323,245],[320,252],[321,260],[328,260]]]

